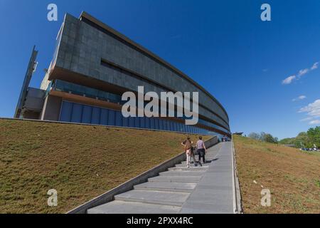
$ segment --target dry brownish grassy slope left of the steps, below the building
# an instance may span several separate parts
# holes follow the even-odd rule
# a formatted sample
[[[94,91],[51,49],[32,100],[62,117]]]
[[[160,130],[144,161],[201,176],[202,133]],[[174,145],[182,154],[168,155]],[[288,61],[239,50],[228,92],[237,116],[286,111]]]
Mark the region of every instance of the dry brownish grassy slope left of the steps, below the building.
[[[184,138],[178,133],[0,120],[0,213],[67,212],[178,155]],[[58,191],[58,207],[47,205],[50,189]]]

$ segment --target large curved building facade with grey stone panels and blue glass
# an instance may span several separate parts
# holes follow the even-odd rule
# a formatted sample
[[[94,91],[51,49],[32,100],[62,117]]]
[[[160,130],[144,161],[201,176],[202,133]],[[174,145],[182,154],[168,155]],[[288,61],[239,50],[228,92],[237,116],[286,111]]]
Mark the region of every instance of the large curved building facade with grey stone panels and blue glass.
[[[183,118],[124,118],[122,94],[137,93],[138,86],[145,93],[198,92],[198,124],[185,125]],[[36,110],[41,120],[230,136],[228,114],[213,95],[85,12],[79,19],[65,15],[41,90],[46,91],[43,108]]]

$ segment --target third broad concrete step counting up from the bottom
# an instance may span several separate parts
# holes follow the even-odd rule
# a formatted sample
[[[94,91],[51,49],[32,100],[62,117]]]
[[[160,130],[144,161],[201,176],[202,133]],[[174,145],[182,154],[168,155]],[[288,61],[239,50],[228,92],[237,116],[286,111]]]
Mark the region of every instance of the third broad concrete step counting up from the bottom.
[[[146,182],[135,185],[135,190],[154,190],[167,192],[192,192],[196,188],[196,183],[183,182]]]

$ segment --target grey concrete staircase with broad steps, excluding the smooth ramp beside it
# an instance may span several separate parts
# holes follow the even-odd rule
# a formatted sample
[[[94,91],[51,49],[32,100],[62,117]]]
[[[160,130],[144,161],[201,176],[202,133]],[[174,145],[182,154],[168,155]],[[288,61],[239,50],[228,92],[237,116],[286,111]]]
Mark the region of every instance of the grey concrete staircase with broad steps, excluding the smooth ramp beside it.
[[[206,160],[214,160],[221,144],[208,150]],[[198,156],[196,156],[198,157]],[[213,161],[214,162],[214,161]],[[135,185],[134,190],[114,196],[114,201],[88,209],[88,214],[176,214],[193,192],[209,164],[202,167],[186,162],[177,164],[159,176],[149,178],[148,182]]]

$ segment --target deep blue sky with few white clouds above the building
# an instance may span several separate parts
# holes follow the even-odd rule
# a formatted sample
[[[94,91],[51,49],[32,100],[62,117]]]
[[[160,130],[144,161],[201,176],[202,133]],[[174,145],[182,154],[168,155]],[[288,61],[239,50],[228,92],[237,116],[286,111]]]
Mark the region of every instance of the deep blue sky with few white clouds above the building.
[[[50,3],[58,5],[58,22],[47,20]],[[260,20],[263,3],[270,4],[272,21]],[[33,44],[39,65],[31,86],[38,87],[64,14],[81,11],[198,81],[224,105],[233,132],[286,138],[320,122],[317,0],[0,0],[1,117],[14,115]]]

